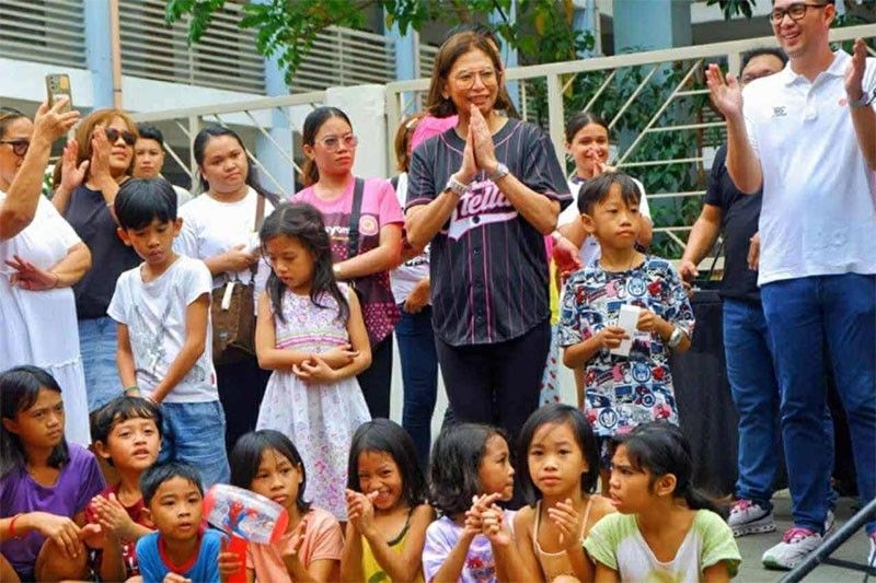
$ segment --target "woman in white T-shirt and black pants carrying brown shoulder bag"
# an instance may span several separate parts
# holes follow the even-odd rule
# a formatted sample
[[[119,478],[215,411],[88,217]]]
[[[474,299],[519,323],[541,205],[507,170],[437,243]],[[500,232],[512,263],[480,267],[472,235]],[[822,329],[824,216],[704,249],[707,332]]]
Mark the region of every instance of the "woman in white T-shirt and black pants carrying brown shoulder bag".
[[[258,250],[256,203],[260,196],[266,198],[264,215],[267,217],[274,212],[278,198],[258,184],[243,142],[234,131],[220,126],[204,128],[195,137],[193,150],[204,194],[180,209],[183,229],[174,248],[207,264],[214,289],[235,277],[249,284],[251,266],[257,266],[255,298],[258,298],[270,268]],[[219,364],[216,374],[219,400],[226,412],[226,444],[231,450],[240,435],[255,429],[270,371],[260,369],[253,355],[241,362]]]

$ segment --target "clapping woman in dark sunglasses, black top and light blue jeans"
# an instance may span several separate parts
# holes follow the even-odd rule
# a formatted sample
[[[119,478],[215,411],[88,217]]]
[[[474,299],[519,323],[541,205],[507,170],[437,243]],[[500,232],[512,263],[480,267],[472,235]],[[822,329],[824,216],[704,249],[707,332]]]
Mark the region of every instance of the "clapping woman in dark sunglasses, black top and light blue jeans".
[[[55,167],[51,202],[91,249],[93,268],[73,287],[85,366],[89,411],[122,393],[116,368],[116,323],[106,308],[123,271],[140,258],[116,234],[113,202],[134,170],[137,126],[120,109],[89,114]]]

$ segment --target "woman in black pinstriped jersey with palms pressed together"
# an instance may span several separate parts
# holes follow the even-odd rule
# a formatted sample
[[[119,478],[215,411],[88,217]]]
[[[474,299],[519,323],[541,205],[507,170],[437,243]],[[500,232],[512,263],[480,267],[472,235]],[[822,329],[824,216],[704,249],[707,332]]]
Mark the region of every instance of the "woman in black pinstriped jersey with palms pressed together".
[[[572,196],[538,127],[504,117],[495,47],[453,35],[435,59],[427,108],[459,121],[414,150],[407,238],[431,241],[438,362],[456,417],[512,438],[538,407],[551,339],[544,235]]]

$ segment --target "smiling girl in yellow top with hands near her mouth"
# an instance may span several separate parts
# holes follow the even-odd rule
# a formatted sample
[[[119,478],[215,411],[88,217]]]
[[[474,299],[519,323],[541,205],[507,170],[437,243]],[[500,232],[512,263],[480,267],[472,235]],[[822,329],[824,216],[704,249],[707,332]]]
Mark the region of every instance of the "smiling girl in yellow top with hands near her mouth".
[[[374,419],[353,435],[347,533],[341,578],[349,582],[422,582],[426,527],[435,513],[407,432]]]

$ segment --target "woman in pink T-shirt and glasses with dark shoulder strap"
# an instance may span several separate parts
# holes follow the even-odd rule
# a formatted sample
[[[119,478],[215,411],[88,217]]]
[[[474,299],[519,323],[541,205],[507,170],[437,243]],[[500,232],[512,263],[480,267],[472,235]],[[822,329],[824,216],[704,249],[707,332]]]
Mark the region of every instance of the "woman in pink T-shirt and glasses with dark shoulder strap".
[[[304,119],[303,142],[307,188],[292,200],[309,202],[322,212],[331,234],[335,278],[350,283],[359,295],[371,343],[371,366],[357,380],[371,417],[389,418],[392,330],[400,317],[389,272],[401,261],[402,209],[389,180],[353,175],[358,139],[344,112],[337,107],[311,112]],[[357,183],[361,198],[354,225]],[[351,226],[356,228],[353,243]]]

